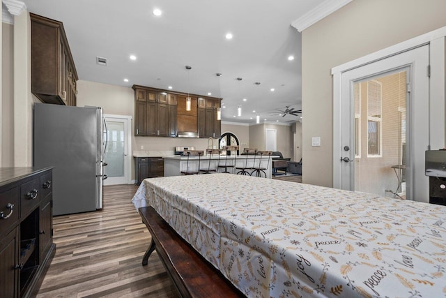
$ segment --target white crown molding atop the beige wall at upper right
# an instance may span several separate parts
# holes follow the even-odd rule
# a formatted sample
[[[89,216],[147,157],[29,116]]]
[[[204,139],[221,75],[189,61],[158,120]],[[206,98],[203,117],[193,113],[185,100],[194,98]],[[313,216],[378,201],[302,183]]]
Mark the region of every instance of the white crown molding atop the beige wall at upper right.
[[[327,15],[334,13],[336,10],[345,6],[353,0],[326,0],[323,3],[319,4],[302,17],[299,17],[298,20],[295,20],[291,23],[295,29],[299,32],[304,31],[308,27],[312,26],[312,24],[322,20]]]

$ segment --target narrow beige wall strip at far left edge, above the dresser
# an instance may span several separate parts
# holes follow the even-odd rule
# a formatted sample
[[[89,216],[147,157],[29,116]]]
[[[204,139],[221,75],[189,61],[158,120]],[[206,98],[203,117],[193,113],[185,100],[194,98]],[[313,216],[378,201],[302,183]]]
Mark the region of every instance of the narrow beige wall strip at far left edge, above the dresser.
[[[1,48],[1,167],[14,165],[13,25],[2,23]]]

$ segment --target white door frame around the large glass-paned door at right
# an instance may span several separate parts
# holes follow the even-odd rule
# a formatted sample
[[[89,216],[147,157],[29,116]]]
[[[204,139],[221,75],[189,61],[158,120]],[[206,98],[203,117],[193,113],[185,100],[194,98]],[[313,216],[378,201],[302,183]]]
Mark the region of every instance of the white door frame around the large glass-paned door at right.
[[[429,149],[445,147],[445,42],[446,27],[422,34],[410,40],[367,54],[346,64],[332,68],[333,76],[333,187],[341,188],[341,107],[342,75],[348,70],[429,45]],[[427,71],[427,70],[426,70]],[[429,198],[427,198],[429,200]]]

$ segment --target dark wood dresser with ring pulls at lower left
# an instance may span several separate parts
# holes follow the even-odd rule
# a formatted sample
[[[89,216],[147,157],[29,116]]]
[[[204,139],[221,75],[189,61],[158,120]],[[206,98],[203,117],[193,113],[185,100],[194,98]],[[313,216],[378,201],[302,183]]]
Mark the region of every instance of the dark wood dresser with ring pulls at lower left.
[[[36,296],[55,248],[52,167],[1,167],[0,296]]]

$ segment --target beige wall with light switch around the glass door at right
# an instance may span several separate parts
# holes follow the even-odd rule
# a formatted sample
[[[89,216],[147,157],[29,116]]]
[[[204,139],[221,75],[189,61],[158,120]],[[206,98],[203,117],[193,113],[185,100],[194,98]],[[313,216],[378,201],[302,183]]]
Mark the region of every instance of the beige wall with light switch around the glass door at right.
[[[355,0],[302,32],[302,172],[332,186],[331,68],[446,26],[444,0]],[[312,147],[321,137],[321,147]]]

